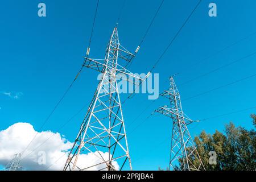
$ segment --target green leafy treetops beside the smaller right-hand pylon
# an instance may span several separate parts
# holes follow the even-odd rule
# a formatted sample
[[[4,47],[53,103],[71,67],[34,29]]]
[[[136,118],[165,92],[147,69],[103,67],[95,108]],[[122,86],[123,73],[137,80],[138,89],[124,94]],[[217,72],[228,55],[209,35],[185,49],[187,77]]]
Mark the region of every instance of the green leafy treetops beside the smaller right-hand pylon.
[[[256,127],[256,115],[251,115]],[[224,134],[216,130],[213,135],[203,131],[195,138],[197,151],[207,170],[255,170],[256,131],[236,127],[233,123],[225,126]],[[209,151],[217,153],[217,164],[210,165]],[[196,161],[193,161],[196,164]]]

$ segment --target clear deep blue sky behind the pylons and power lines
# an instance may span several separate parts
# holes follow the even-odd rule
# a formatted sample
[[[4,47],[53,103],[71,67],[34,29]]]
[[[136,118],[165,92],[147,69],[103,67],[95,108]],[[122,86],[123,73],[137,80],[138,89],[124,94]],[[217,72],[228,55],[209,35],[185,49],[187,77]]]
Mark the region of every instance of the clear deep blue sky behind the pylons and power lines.
[[[5,1],[0,6],[0,130],[16,122],[31,123],[36,130],[59,101],[82,64],[92,27],[96,1],[48,1],[47,17],[37,15],[41,1]],[[217,17],[208,16],[210,2],[217,4]],[[127,1],[119,22],[122,46],[134,52],[159,6],[160,0]],[[197,1],[166,1],[155,19],[130,71],[147,73],[181,24],[191,13]],[[103,58],[109,36],[117,22],[122,1],[100,1],[90,55]],[[203,1],[180,32],[154,73],[159,73],[159,90],[168,88],[168,77],[175,77],[182,99],[217,88],[255,74],[256,55],[219,69],[188,84],[216,68],[232,63],[255,52],[256,2]],[[111,11],[111,12],[110,12]],[[236,43],[238,40],[249,38]],[[224,49],[226,46],[234,46]],[[212,56],[213,55],[213,56]],[[209,57],[209,59],[205,59]],[[201,61],[203,60],[203,61]],[[199,64],[195,64],[201,61]],[[86,111],[77,115],[59,130],[73,114],[92,99],[97,87],[97,72],[84,69],[65,100],[57,108],[42,130],[58,131],[73,141]],[[238,82],[183,102],[183,110],[192,119],[204,119],[218,114],[255,106],[256,77]],[[179,86],[181,85],[181,86]],[[11,97],[8,94],[11,93]],[[18,95],[18,99],[14,98]],[[122,94],[121,100],[127,97]],[[146,94],[138,94],[123,107],[126,126],[152,101]],[[134,169],[166,168],[169,160],[171,135],[170,119],[155,115],[131,131],[159,106],[168,104],[159,98],[129,127],[127,139]],[[191,135],[201,130],[213,133],[223,130],[225,123],[233,121],[247,129],[253,127],[250,114],[255,109],[225,117],[209,119],[190,126]],[[162,144],[158,144],[162,143]],[[153,150],[154,149],[154,150]],[[143,156],[143,157],[142,157]]]

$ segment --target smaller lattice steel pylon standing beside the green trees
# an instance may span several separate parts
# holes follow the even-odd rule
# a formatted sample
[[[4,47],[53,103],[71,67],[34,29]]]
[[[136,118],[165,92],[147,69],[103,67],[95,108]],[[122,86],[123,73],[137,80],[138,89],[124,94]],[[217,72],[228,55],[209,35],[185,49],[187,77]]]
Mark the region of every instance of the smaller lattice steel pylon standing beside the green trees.
[[[174,82],[174,77],[170,77],[170,89],[164,90],[161,94],[170,100],[170,107],[163,106],[155,110],[158,113],[172,118],[172,139],[170,154],[170,170],[199,171],[205,170],[204,164],[196,150],[195,143],[189,134],[187,125],[192,121],[183,113],[180,93]]]

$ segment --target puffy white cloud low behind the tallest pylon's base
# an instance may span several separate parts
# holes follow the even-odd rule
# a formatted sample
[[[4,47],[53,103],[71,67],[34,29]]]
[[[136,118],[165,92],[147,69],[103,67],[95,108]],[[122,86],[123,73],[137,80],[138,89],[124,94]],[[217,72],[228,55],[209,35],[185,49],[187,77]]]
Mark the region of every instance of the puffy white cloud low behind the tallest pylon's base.
[[[13,158],[14,154],[24,151],[35,135],[36,138],[22,155],[21,164],[23,168],[28,170],[45,170],[51,166],[48,170],[62,170],[72,143],[59,133],[35,131],[30,123],[15,123],[6,130],[0,131],[0,165],[5,166]],[[46,140],[47,142],[45,142]],[[42,144],[43,142],[45,143]],[[41,144],[42,146],[40,146]],[[46,164],[40,165],[38,163],[40,156],[42,156],[40,151],[44,151],[46,154]],[[109,157],[108,152],[100,153],[103,158],[107,159]],[[77,160],[77,166],[85,168],[100,162],[101,159],[97,158],[96,153],[82,154],[79,156],[79,160]],[[117,162],[113,162],[113,166],[117,169],[119,168]],[[105,164],[102,164],[101,166],[90,168],[90,170],[102,169],[104,167]]]

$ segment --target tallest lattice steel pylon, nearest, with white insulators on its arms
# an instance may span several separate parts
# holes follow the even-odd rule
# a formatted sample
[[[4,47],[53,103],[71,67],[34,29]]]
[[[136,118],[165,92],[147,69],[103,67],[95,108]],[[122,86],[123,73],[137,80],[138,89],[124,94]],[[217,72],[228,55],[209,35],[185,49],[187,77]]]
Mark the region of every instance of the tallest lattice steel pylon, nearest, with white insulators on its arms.
[[[139,47],[135,53],[138,49]],[[137,84],[143,79],[118,64],[119,59],[130,62],[134,55],[119,43],[117,27],[110,36],[105,59],[89,59],[89,51],[88,48],[84,66],[102,73],[102,77],[69,153],[64,171],[122,170],[127,164],[127,167],[132,169],[117,74],[131,77],[138,81]],[[93,155],[94,159],[84,163],[83,159],[89,155]]]

